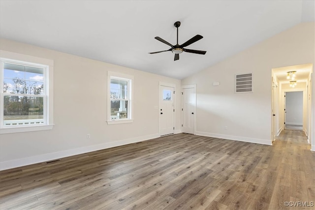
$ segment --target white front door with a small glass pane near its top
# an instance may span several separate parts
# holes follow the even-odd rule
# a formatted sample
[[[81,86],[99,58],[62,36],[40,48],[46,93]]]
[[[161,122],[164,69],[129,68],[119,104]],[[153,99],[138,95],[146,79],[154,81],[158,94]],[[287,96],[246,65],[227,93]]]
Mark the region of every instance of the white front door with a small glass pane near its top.
[[[174,133],[174,88],[159,86],[159,135]]]

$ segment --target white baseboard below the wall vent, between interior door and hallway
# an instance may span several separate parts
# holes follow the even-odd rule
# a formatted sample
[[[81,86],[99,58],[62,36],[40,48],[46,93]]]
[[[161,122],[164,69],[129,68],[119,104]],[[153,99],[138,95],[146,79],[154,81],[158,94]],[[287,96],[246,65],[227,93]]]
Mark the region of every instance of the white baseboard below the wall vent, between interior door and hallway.
[[[230,135],[207,133],[207,132],[200,132],[200,131],[196,131],[195,134],[199,136],[207,136],[207,137],[214,137],[214,138],[220,138],[220,139],[256,143],[256,144],[262,144],[262,145],[272,145],[272,141],[267,140],[267,139],[255,139],[255,138],[248,138],[248,137],[242,137],[242,136],[230,136]]]

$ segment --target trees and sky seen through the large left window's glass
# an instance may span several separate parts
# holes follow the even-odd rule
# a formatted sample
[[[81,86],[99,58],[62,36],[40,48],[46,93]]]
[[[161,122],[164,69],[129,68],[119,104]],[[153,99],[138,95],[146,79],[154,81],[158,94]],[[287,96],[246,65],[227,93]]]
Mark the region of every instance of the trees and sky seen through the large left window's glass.
[[[30,120],[23,124],[43,123],[32,119],[44,116],[44,69],[4,63],[3,120]],[[32,122],[31,122],[32,121]],[[10,125],[19,123],[9,123]]]

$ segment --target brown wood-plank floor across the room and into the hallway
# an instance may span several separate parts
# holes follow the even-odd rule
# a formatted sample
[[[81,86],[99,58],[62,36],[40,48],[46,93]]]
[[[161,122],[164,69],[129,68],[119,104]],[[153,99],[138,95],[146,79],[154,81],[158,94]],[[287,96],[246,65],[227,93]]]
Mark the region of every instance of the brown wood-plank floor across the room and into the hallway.
[[[1,171],[0,209],[311,210],[314,165],[298,130],[273,146],[176,134]]]

